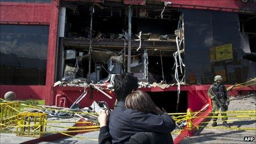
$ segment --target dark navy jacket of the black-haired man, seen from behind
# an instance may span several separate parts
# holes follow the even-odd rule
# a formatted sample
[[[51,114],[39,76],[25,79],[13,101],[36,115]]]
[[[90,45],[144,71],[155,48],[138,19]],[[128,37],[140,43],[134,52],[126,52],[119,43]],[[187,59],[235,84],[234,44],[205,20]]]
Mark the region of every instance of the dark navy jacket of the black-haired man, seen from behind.
[[[127,109],[124,102],[119,102],[110,113],[109,134],[113,143],[125,143],[138,132],[169,134],[174,129],[175,121],[169,115]]]

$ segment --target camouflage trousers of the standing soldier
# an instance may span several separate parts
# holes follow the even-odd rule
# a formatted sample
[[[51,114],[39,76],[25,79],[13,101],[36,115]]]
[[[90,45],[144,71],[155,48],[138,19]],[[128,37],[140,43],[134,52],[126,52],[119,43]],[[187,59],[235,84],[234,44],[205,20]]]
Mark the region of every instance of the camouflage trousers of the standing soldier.
[[[221,108],[222,106],[222,108]],[[218,104],[215,100],[212,100],[212,116],[218,116],[218,110],[220,110],[221,108],[221,111],[227,111],[228,109],[228,106],[227,105],[221,105]],[[221,116],[223,116],[221,119],[222,121],[227,121],[227,114],[226,113],[221,113]],[[213,118],[212,120],[214,121],[217,121],[218,118]]]

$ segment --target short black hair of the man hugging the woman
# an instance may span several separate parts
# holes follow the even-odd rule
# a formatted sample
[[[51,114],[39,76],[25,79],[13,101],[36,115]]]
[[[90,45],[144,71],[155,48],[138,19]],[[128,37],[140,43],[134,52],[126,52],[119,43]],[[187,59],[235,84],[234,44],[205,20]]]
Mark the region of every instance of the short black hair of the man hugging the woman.
[[[132,90],[138,89],[138,79],[132,73],[121,73],[115,76],[114,90],[116,99],[125,102],[125,98]]]

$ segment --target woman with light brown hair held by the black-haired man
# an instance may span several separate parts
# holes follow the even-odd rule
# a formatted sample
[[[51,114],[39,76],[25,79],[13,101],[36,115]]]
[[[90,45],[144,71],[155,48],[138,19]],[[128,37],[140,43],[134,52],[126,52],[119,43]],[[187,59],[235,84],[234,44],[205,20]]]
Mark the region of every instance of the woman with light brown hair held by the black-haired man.
[[[154,104],[153,100],[150,98],[150,95],[147,93],[136,90],[131,94],[127,95],[125,99],[125,106],[127,109],[141,111],[145,114],[164,114],[162,110],[160,110],[156,104]],[[107,121],[108,121],[108,112],[106,110],[99,116],[99,122],[101,129],[107,129]],[[105,115],[105,116],[104,116]],[[103,127],[104,126],[104,127]],[[111,143],[111,136],[109,132],[106,130],[100,131],[99,143]],[[105,137],[105,138],[103,138]],[[130,137],[130,140],[125,142],[129,143],[173,143],[173,138],[170,133],[161,133],[161,132],[138,132],[135,135]]]

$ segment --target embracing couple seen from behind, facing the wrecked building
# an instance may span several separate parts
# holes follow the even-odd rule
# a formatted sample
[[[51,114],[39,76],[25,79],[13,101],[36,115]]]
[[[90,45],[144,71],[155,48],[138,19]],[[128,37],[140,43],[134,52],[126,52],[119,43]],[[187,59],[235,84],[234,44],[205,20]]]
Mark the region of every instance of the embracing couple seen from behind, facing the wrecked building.
[[[175,121],[137,90],[138,79],[130,73],[116,75],[117,105],[99,115],[99,143],[173,143]]]

